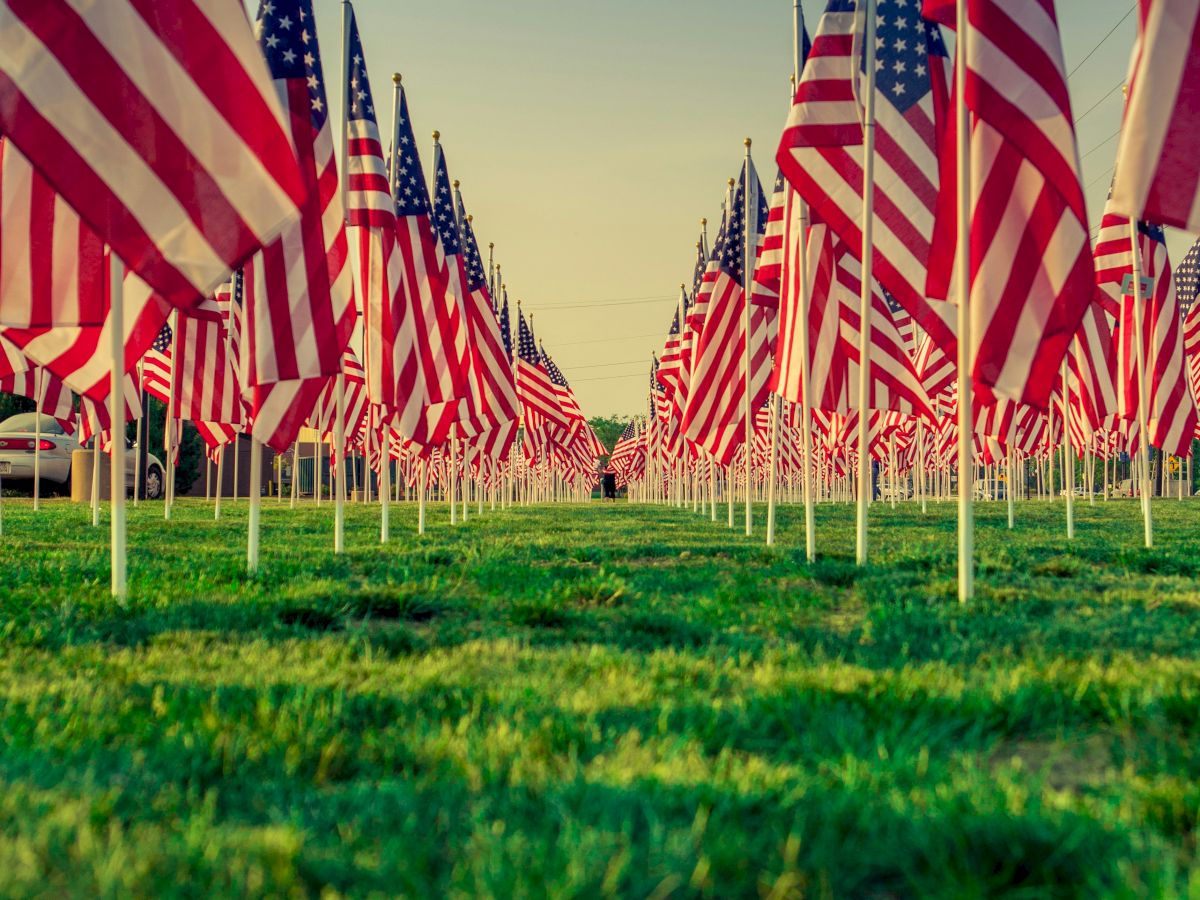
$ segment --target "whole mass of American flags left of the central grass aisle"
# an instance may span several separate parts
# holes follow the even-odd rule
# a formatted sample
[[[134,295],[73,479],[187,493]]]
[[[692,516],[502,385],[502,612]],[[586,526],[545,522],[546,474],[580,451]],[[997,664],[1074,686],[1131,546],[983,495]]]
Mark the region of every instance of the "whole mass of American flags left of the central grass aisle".
[[[0,11],[0,389],[112,428],[115,272],[127,420],[145,390],[212,455],[308,426],[377,472],[386,450],[494,482],[520,452],[590,484],[605,448],[520,308],[514,341],[398,76],[377,107],[353,8],[342,124],[312,0],[252,26],[224,0]]]

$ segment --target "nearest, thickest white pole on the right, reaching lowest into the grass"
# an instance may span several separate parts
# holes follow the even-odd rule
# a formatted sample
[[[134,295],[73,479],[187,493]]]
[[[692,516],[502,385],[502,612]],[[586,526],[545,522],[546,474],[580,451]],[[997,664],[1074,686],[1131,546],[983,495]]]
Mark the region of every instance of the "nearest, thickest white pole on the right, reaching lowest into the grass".
[[[958,89],[954,92],[955,140],[958,146],[958,370],[959,370],[959,602],[974,596],[974,518],[971,500],[973,486],[971,414],[971,143],[967,121],[967,0],[955,0],[958,17],[956,56]],[[872,42],[874,46],[874,42]]]

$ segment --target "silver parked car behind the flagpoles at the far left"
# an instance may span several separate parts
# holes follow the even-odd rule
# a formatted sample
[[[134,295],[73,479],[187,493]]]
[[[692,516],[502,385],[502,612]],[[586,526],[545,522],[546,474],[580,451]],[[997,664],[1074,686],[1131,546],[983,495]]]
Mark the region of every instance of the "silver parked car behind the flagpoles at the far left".
[[[34,482],[34,450],[38,440],[37,413],[18,413],[0,422],[0,479],[7,486],[11,481]],[[71,484],[71,454],[79,450],[79,439],[68,434],[58,419],[41,416],[41,475],[42,482],[54,488]],[[126,443],[128,446],[128,443]],[[133,472],[137,466],[134,454],[125,455],[125,490],[133,490]],[[162,499],[162,461],[150,454],[146,458],[146,497]]]

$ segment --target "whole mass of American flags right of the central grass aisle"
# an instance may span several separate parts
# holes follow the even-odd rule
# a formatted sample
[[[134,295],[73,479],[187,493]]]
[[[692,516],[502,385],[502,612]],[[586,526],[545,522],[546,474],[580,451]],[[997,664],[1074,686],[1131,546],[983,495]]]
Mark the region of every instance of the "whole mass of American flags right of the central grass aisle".
[[[973,431],[965,439],[977,464],[1046,460],[1064,442],[1079,458],[1147,444],[1190,456],[1200,438],[1200,244],[1181,304],[1160,223],[1200,230],[1200,107],[1187,86],[1200,59],[1200,2],[1140,2],[1116,176],[1094,240],[1054,4],[966,8],[958,23],[952,0],[829,0],[811,44],[802,26],[805,58],[769,202],[748,150],[712,247],[704,234],[697,244],[652,366],[647,412],[614,446],[622,480],[653,481],[661,494],[678,479],[745,486],[805,464],[812,480],[845,478],[858,468],[860,425],[878,466],[948,473],[965,389],[955,362],[962,299]],[[962,73],[943,26],[965,41]],[[954,277],[960,181],[967,298]]]

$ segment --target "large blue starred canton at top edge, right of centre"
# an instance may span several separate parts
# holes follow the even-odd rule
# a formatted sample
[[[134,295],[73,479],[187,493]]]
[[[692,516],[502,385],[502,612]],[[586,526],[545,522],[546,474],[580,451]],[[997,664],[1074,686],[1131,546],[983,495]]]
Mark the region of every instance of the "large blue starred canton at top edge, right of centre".
[[[932,90],[929,58],[948,56],[941,29],[920,16],[920,0],[878,0],[875,12],[875,89],[908,112]],[[866,55],[863,55],[863,71]]]

